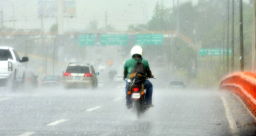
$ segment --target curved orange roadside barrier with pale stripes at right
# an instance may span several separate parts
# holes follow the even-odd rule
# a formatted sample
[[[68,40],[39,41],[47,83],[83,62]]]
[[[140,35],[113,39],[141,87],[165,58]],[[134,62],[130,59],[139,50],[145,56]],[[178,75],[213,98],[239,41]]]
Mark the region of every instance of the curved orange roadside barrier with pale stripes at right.
[[[256,74],[237,72],[221,80],[220,90],[236,93],[256,117]]]

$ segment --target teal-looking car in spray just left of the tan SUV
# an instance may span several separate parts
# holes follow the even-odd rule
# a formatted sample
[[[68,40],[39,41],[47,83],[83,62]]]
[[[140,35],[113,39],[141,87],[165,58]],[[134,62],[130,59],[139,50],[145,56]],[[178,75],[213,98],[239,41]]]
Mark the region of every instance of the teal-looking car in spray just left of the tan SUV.
[[[61,85],[61,76],[58,75],[46,75],[41,82],[44,87],[55,87]]]

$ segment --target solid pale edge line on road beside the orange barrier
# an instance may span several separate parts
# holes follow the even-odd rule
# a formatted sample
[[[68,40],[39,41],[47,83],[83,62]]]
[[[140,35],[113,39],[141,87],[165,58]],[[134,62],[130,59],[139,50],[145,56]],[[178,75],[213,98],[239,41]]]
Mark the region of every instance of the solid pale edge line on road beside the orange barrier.
[[[221,96],[221,100],[223,101],[223,104],[224,104],[225,113],[226,113],[226,117],[228,118],[231,133],[235,136],[238,136],[238,129],[237,129],[236,121],[233,119],[231,110],[228,106],[228,102],[227,102],[226,98],[224,98],[223,96]]]

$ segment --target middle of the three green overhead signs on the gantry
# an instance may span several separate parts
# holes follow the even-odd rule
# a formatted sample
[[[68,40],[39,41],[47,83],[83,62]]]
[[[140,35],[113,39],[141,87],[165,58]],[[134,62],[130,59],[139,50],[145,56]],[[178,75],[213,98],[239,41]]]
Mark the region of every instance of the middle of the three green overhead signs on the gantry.
[[[101,34],[100,45],[127,45],[127,34]]]

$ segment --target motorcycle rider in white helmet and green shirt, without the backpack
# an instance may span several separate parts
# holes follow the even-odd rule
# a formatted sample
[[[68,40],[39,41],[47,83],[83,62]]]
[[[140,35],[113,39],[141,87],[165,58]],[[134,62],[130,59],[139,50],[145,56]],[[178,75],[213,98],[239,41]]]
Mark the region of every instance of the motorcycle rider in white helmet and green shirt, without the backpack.
[[[129,80],[130,72],[132,72],[132,69],[134,69],[134,66],[137,63],[138,59],[142,59],[142,48],[140,46],[134,46],[130,51],[130,53],[132,54],[132,59],[128,59],[124,64],[124,79],[127,79],[127,80]],[[153,78],[154,75],[152,75],[151,73],[148,61],[145,59],[142,59],[142,63],[146,70],[145,75],[148,78]],[[130,108],[132,101],[131,101],[131,95],[127,94],[130,88],[130,83],[127,80],[126,80],[126,106],[127,108]],[[154,105],[152,104],[153,85],[149,80],[145,80],[143,85],[144,85],[144,88],[146,89],[146,96],[145,96],[146,104],[148,107],[154,107]]]

